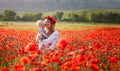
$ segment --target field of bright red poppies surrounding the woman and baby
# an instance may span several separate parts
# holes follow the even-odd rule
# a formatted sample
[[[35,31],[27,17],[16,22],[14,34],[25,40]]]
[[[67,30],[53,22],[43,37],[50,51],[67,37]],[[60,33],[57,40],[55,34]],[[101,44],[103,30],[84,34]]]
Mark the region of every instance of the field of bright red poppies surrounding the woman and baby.
[[[54,50],[38,50],[37,31],[0,29],[0,71],[120,71],[120,28],[59,30]]]

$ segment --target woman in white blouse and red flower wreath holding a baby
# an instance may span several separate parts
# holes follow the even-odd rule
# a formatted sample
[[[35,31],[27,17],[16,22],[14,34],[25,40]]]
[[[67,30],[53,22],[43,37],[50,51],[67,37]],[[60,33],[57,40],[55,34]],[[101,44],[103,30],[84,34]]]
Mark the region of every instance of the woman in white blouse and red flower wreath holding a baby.
[[[58,31],[55,30],[56,20],[51,16],[46,16],[44,20],[44,24],[48,38],[39,41],[39,49],[45,48],[46,50],[52,50],[54,49],[58,40]]]

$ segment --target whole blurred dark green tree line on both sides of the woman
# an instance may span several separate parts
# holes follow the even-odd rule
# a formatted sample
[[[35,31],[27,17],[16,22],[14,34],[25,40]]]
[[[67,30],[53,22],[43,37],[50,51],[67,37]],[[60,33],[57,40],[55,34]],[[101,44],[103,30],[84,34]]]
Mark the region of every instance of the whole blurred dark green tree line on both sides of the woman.
[[[120,13],[117,12],[56,12],[53,16],[60,22],[120,23]],[[43,19],[43,13],[17,15],[13,10],[5,10],[0,14],[0,21],[36,21],[39,19]]]

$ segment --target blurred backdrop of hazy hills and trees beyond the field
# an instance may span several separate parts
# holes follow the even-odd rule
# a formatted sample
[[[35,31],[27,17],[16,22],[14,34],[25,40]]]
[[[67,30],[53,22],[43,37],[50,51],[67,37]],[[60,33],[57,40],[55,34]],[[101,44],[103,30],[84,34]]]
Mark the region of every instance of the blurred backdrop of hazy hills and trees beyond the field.
[[[36,22],[46,15],[54,16],[61,24],[118,26],[120,0],[0,0],[1,26]]]

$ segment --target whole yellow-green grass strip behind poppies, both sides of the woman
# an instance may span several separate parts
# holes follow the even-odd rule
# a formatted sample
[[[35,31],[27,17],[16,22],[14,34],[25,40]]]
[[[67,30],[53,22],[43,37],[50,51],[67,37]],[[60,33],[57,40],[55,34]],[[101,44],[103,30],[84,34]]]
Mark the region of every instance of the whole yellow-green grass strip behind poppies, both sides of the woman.
[[[8,25],[6,25],[6,23]],[[120,28],[120,24],[58,22],[55,28],[56,30],[81,30],[81,29],[89,29],[89,28],[96,28],[96,27]],[[16,30],[37,30],[38,29],[35,22],[0,22],[0,28],[16,29]]]

